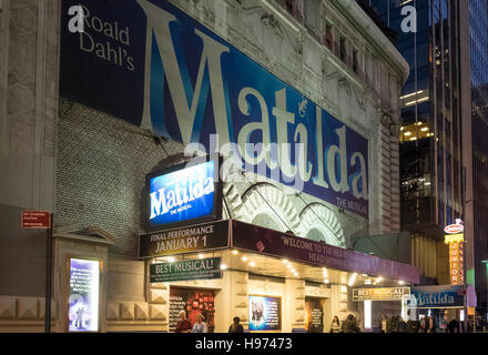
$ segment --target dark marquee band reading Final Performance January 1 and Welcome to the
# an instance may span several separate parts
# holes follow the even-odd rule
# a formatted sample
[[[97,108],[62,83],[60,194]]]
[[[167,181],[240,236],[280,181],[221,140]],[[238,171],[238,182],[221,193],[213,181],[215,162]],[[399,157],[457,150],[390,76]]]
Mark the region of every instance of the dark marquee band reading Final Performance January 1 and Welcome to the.
[[[183,255],[225,248],[237,248],[311,266],[382,276],[411,284],[418,284],[420,278],[418,270],[408,264],[236,220],[143,234],[139,242],[139,257]]]

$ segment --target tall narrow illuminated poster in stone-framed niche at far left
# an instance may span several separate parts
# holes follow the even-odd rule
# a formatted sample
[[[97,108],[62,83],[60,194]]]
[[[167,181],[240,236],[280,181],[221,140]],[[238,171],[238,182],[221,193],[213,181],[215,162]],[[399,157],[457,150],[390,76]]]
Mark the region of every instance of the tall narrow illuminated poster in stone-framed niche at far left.
[[[69,258],[68,332],[98,332],[100,261]]]

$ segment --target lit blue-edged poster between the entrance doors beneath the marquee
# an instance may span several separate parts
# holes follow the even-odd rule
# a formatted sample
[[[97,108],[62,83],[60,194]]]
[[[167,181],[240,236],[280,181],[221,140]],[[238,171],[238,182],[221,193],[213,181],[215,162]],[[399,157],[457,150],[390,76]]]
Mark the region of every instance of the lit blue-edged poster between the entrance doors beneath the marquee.
[[[281,331],[282,300],[279,297],[250,296],[250,331]]]

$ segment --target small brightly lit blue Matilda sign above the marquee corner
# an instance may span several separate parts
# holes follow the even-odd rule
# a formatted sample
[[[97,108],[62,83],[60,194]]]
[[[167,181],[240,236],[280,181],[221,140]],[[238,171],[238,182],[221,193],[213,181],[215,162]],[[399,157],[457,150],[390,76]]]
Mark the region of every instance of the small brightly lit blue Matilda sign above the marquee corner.
[[[176,166],[182,169],[148,178],[149,230],[216,217],[215,162]]]

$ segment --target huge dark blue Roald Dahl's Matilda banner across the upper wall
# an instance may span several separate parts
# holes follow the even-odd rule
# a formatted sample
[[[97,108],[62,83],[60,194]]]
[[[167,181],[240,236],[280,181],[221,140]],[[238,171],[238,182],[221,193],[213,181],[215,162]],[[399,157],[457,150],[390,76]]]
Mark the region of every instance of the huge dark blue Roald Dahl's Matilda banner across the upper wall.
[[[206,27],[165,0],[62,4],[61,97],[368,216],[368,141]]]

